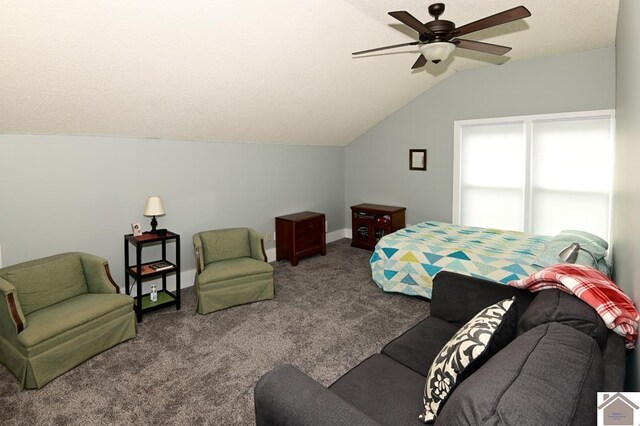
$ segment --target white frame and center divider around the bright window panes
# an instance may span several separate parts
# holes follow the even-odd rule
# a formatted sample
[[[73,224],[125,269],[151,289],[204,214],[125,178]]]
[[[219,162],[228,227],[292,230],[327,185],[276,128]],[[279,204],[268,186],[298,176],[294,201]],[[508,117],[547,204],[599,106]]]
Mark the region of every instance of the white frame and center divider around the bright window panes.
[[[536,115],[519,115],[513,117],[497,117],[497,118],[482,118],[474,120],[456,120],[454,121],[454,144],[453,144],[453,208],[452,208],[452,223],[460,224],[461,222],[461,168],[460,163],[462,161],[461,152],[461,136],[464,127],[482,126],[482,125],[500,125],[500,124],[522,124],[525,137],[525,149],[527,152],[527,163],[525,170],[525,184],[524,184],[524,197],[522,211],[524,212],[522,217],[522,229],[524,232],[531,232],[531,199],[532,199],[532,185],[531,185],[531,162],[529,159],[532,155],[532,139],[533,139],[533,124],[536,122],[544,121],[563,121],[563,120],[575,120],[575,119],[587,119],[587,118],[606,118],[611,120],[611,141],[612,150],[615,151],[615,110],[604,109],[594,111],[579,111],[568,113],[553,113],[553,114],[536,114]],[[611,161],[615,159],[615,152],[611,153]],[[613,168],[612,168],[613,170]],[[609,188],[609,223],[607,224],[607,230],[609,238],[611,235],[612,227],[612,205],[611,197],[613,196],[613,179]],[[603,236],[605,237],[605,236]],[[609,250],[611,253],[611,250]]]

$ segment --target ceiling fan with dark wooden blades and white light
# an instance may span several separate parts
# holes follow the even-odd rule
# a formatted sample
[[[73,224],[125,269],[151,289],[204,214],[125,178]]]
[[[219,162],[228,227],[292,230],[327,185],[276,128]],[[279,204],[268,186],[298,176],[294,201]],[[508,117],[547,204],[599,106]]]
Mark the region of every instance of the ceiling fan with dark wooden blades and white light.
[[[397,12],[389,12],[389,15],[393,16],[408,27],[416,30],[419,35],[418,41],[361,50],[359,52],[353,52],[352,55],[362,55],[385,49],[394,49],[396,47],[418,45],[420,48],[420,56],[411,69],[423,67],[428,61],[437,64],[440,61],[447,59],[456,47],[491,53],[493,55],[504,55],[511,50],[510,47],[458,37],[531,16],[531,12],[529,12],[526,7],[518,6],[456,28],[456,25],[453,22],[439,19],[440,15],[443,13],[443,3],[434,3],[430,5],[429,15],[433,16],[435,19],[423,24],[407,11],[401,10]]]

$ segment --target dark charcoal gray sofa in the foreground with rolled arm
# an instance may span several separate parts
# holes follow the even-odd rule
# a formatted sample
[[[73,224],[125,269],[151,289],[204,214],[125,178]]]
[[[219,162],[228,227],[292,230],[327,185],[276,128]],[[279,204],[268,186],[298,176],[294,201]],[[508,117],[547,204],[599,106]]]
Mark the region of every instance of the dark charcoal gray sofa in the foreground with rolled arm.
[[[329,388],[291,365],[255,386],[257,425],[421,425],[425,376],[440,349],[483,308],[516,297],[517,337],[451,394],[436,425],[587,425],[596,392],[624,385],[624,339],[558,290],[528,291],[450,272],[431,315]]]

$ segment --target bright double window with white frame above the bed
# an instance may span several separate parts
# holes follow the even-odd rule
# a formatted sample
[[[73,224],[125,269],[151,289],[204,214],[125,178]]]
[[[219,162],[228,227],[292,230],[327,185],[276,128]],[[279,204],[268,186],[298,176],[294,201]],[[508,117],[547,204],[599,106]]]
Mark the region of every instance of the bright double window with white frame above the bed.
[[[613,111],[455,122],[453,221],[610,236]]]

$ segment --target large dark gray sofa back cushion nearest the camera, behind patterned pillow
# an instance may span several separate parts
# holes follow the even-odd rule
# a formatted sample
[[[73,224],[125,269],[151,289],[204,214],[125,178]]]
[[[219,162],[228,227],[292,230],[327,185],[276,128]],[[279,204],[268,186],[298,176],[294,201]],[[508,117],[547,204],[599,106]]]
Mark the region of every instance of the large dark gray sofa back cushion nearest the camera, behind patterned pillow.
[[[467,378],[437,424],[596,424],[602,383],[595,340],[549,323],[517,337]]]

